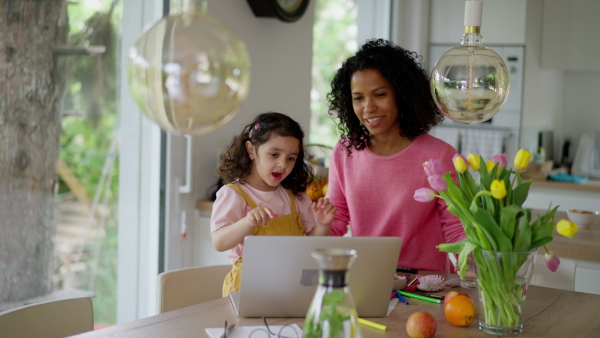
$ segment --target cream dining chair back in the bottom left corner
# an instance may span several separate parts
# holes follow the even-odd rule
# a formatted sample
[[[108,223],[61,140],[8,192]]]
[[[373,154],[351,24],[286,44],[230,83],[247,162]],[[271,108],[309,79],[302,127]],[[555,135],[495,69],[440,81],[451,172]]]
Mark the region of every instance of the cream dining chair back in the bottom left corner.
[[[94,329],[89,297],[24,305],[0,313],[0,336],[61,338]]]

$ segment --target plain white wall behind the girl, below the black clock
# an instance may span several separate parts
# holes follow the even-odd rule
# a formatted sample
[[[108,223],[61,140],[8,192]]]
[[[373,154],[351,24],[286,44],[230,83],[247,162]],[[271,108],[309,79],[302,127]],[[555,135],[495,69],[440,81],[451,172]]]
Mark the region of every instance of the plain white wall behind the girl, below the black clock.
[[[274,110],[290,115],[303,127],[308,141],[314,3],[300,20],[285,23],[255,17],[246,1],[208,1],[208,13],[246,43],[251,80],[238,114],[222,128],[194,137],[195,199],[207,197],[206,191],[217,181],[213,173],[218,154],[259,113]]]

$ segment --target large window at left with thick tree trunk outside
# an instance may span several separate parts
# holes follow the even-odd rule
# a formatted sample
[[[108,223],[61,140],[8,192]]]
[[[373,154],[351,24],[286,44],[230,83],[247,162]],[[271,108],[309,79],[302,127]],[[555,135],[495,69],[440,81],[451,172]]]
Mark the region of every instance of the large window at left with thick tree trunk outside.
[[[120,0],[0,9],[0,311],[86,295],[95,324],[116,321],[121,13]]]

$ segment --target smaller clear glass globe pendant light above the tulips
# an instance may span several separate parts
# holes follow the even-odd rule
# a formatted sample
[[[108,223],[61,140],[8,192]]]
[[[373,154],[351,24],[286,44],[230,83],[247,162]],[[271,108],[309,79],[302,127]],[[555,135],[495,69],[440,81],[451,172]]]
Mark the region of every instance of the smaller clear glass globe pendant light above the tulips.
[[[476,124],[491,119],[506,102],[509,75],[502,58],[482,45],[483,3],[465,1],[465,33],[460,46],[448,50],[431,73],[431,92],[444,115]]]

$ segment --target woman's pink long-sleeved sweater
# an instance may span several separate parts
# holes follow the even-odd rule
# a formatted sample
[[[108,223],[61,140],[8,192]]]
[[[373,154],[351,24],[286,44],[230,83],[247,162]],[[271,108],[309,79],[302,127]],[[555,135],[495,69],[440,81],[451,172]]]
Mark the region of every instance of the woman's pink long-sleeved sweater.
[[[350,223],[352,236],[400,237],[399,267],[450,272],[447,253],[435,246],[466,237],[460,220],[442,199],[422,203],[413,196],[415,190],[429,187],[423,162],[438,159],[445,171],[455,175],[454,154],[452,146],[429,134],[390,156],[366,148],[353,149],[348,157],[338,142],[327,190],[327,198],[337,208],[330,235],[344,235]]]

